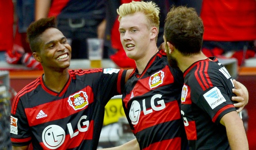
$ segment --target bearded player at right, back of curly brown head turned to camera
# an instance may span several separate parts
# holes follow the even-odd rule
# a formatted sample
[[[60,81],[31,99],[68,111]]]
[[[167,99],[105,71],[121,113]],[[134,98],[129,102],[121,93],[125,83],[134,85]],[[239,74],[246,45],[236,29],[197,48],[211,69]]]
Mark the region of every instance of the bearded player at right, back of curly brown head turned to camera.
[[[172,67],[183,71],[181,114],[191,150],[248,150],[243,121],[231,101],[232,77],[201,51],[204,26],[193,8],[173,7],[164,40]]]

